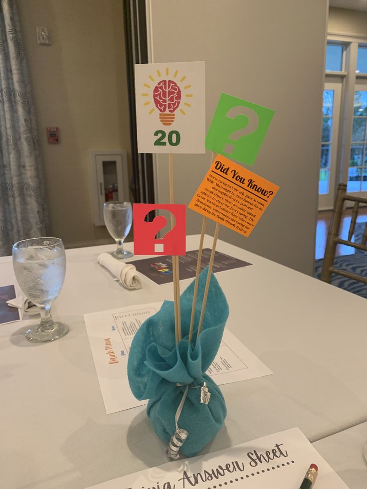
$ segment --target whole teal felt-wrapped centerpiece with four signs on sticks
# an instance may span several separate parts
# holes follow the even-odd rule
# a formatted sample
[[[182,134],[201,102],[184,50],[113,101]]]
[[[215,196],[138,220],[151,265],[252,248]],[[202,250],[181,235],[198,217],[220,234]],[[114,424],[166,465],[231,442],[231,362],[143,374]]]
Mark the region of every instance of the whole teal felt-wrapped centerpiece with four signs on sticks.
[[[135,67],[138,151],[169,154],[169,204],[134,204],[134,253],[172,254],[174,301],[139,328],[129,352],[128,377],[147,415],[168,444],[170,460],[197,454],[221,429],[223,395],[205,373],[221,343],[229,310],[212,273],[219,225],[248,236],[278,187],[242,166],[252,165],[273,111],[222,94],[206,138],[212,165],[189,207],[203,215],[194,281],[180,294],[179,256],[185,254],[185,206],[174,203],[174,153],[205,152],[204,63]],[[170,212],[166,217],[151,212]],[[200,273],[206,220],[216,222],[208,267]],[[168,226],[168,229],[166,227]],[[160,230],[165,230],[159,237]]]

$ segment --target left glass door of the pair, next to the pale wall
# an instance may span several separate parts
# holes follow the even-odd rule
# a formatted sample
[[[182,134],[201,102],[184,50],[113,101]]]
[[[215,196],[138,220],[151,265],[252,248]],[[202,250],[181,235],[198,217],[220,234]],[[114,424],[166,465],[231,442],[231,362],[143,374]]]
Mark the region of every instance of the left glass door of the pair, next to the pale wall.
[[[319,209],[331,209],[334,205],[341,95],[342,80],[335,79],[325,83],[319,173]]]

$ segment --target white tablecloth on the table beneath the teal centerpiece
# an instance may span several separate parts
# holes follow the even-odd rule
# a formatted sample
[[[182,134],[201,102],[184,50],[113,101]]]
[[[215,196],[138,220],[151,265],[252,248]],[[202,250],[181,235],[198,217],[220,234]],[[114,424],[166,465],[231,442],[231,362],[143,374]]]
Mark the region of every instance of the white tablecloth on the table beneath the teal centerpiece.
[[[187,237],[187,249],[198,241]],[[35,345],[23,336],[34,320],[0,326],[1,488],[80,489],[166,461],[144,407],[105,414],[82,315],[173,299],[173,287],[145,278],[142,290],[123,289],[97,264],[112,249],[67,250],[52,307],[70,326],[64,338]],[[221,387],[228,416],[206,451],[294,426],[316,441],[366,421],[366,300],[224,242],[217,249],[253,264],[217,279],[227,327],[275,374]],[[0,285],[13,281],[11,258],[0,258]]]

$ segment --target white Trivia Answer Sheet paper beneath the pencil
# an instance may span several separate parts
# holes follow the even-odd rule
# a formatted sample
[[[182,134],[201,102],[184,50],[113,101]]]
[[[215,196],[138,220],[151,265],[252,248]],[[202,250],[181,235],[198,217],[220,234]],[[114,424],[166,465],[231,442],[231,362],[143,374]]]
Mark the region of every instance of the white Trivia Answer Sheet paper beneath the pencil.
[[[319,469],[316,488],[348,489],[299,428],[168,462],[87,489],[296,489],[311,463]]]

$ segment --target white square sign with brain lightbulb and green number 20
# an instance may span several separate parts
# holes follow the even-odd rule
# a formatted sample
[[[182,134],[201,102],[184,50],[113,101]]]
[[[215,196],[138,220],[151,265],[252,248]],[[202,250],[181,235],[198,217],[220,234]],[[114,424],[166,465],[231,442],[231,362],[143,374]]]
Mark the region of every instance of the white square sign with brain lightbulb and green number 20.
[[[205,153],[205,64],[135,65],[139,153]]]

